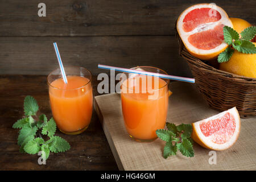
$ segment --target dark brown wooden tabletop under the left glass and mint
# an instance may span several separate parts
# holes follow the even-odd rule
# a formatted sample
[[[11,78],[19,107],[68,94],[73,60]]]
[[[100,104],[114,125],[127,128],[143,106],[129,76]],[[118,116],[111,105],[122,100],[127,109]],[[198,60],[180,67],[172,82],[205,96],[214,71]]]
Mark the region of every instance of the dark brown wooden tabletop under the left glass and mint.
[[[93,76],[93,93],[97,93],[97,77]],[[0,170],[118,170],[108,140],[97,114],[93,111],[88,129],[80,135],[56,135],[71,144],[67,152],[51,153],[46,165],[38,164],[38,155],[21,154],[17,144],[18,129],[13,123],[23,116],[23,100],[35,97],[42,113],[51,118],[46,76],[0,76]]]

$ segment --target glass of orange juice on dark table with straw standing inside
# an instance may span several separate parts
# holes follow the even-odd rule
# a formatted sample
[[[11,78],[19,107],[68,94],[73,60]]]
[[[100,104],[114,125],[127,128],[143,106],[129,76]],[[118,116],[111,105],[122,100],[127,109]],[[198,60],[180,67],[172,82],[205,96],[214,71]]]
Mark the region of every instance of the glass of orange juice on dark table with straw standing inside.
[[[53,118],[64,134],[76,135],[87,129],[92,117],[92,73],[82,67],[65,67],[68,84],[60,69],[49,73],[47,83]]]

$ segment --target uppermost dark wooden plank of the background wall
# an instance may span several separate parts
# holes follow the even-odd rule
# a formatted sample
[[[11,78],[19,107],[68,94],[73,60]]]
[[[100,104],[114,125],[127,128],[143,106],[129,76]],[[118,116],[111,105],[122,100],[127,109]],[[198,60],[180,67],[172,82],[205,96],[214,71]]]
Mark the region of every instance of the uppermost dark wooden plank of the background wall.
[[[174,35],[181,12],[205,0],[1,0],[1,36]],[[254,0],[215,0],[230,17],[255,24]]]

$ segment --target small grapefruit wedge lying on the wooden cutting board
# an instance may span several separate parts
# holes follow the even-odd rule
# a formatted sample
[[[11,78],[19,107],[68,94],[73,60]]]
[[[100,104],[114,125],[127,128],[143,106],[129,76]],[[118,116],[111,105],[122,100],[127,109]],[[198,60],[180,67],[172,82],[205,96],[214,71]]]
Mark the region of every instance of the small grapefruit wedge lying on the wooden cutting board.
[[[192,139],[210,150],[226,150],[240,133],[240,115],[236,109],[226,110],[207,119],[192,123]]]

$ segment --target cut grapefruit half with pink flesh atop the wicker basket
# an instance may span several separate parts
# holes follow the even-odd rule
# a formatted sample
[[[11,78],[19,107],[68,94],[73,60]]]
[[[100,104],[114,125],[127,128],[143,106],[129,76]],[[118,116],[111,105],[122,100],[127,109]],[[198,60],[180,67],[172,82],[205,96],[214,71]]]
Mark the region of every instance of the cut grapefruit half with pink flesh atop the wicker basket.
[[[215,59],[228,47],[224,26],[233,27],[229,16],[221,7],[208,3],[189,7],[177,19],[177,32],[188,52],[202,60]]]

